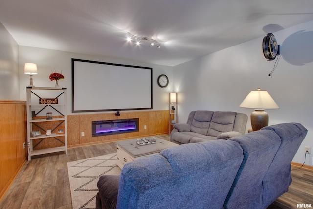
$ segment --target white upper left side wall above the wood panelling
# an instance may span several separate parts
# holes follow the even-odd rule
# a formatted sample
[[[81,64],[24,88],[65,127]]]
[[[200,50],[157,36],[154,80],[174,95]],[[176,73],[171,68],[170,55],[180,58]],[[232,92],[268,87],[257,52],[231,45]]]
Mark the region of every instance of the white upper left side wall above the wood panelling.
[[[0,23],[0,100],[20,100],[19,46]]]

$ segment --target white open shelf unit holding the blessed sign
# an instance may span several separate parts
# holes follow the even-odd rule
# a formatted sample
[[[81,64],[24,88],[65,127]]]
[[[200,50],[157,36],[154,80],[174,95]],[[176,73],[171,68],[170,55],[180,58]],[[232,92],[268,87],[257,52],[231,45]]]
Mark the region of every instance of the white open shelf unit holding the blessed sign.
[[[66,94],[66,88],[26,87],[28,160],[31,160],[31,156],[53,152],[65,151],[65,154],[67,154]],[[44,98],[49,98],[50,100],[51,97],[54,97],[54,99],[58,100],[58,104],[40,104],[39,101],[44,99],[42,96],[44,96]],[[52,113],[52,119],[46,119],[46,112]],[[59,134],[57,133],[58,129],[63,129],[64,132]],[[51,130],[50,135],[46,135],[47,130]],[[38,131],[41,135],[33,136],[33,131]],[[36,146],[46,140],[49,140],[47,143],[51,140],[56,140],[56,143],[61,144],[61,146],[34,150]],[[36,141],[35,146],[33,143],[34,141]]]

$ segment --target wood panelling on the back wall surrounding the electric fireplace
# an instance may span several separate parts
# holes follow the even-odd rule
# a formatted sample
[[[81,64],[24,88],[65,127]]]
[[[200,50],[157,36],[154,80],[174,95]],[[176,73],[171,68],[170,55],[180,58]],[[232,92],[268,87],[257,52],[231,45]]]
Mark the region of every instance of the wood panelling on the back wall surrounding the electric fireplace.
[[[92,137],[92,121],[130,118],[139,118],[139,132]],[[67,115],[69,148],[168,133],[169,110],[120,112],[120,116],[116,116],[115,113]]]

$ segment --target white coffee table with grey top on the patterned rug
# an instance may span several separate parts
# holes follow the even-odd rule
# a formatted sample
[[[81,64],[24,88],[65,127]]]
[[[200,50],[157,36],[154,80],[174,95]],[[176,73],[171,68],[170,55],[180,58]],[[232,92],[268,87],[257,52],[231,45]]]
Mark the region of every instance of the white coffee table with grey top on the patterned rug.
[[[160,139],[158,137],[146,137],[149,139],[155,139],[156,143],[147,145],[138,145],[137,139],[130,139],[124,141],[115,142],[117,145],[117,162],[118,167],[123,169],[126,163],[134,161],[138,158],[147,157],[149,155],[155,155],[161,152],[163,149],[179,146],[176,143]],[[140,138],[139,138],[140,139]]]

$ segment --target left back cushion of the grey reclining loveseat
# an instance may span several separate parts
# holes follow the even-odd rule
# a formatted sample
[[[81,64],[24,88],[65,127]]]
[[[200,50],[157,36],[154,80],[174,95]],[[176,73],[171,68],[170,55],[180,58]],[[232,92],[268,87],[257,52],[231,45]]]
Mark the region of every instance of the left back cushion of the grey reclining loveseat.
[[[191,123],[190,130],[195,133],[207,135],[213,113],[213,111],[208,110],[196,111]]]

